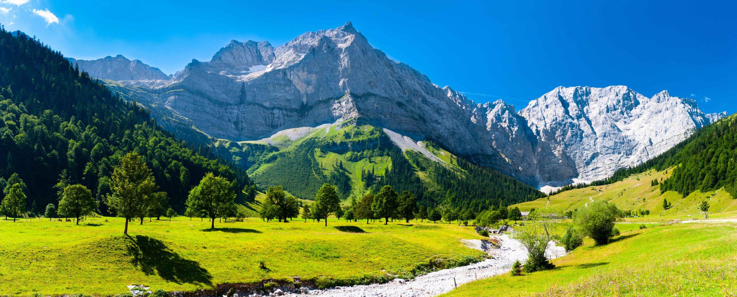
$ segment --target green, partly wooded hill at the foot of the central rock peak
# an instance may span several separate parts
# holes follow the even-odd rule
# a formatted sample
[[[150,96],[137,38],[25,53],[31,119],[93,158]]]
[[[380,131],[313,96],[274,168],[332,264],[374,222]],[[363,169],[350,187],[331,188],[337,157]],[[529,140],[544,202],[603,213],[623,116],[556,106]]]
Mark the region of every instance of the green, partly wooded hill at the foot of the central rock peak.
[[[534,188],[490,168],[481,168],[433,143],[404,151],[383,129],[347,121],[316,128],[290,129],[265,140],[220,140],[217,147],[248,155],[248,169],[262,188],[284,185],[299,198],[312,199],[329,182],[342,198],[360,198],[382,185],[413,192],[420,203],[450,201],[455,207],[486,209],[541,197]],[[239,162],[234,160],[235,162]]]

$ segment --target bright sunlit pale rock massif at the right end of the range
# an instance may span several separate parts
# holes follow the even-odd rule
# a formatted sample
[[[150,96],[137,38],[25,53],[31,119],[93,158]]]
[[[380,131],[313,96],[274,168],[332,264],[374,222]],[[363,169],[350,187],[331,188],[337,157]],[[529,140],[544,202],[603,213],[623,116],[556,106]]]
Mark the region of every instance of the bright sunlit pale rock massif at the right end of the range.
[[[638,165],[725,114],[705,115],[665,90],[648,98],[611,86],[556,87],[520,115],[537,135],[539,180],[559,186],[570,182],[562,177],[593,181]]]

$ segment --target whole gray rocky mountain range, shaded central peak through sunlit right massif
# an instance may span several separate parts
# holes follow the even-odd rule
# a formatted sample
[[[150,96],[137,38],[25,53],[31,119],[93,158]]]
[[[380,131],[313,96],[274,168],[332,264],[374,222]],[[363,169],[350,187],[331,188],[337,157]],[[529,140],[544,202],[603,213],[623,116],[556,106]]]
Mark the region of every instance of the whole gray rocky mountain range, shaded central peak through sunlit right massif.
[[[624,86],[557,87],[520,112],[501,100],[475,104],[388,59],[350,23],[277,47],[234,40],[169,81],[123,83],[170,128],[241,141],[355,119],[433,140],[539,187],[607,177],[724,116],[665,91],[647,98]]]

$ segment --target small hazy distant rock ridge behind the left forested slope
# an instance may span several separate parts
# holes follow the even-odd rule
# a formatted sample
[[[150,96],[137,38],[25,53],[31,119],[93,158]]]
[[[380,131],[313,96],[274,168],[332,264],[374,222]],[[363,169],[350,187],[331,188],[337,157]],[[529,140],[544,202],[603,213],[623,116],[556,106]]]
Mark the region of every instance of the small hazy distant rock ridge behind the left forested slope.
[[[119,54],[115,57],[104,57],[97,60],[75,60],[67,58],[72,64],[77,63],[80,69],[87,71],[90,76],[98,79],[111,80],[144,80],[144,79],[164,79],[169,80],[170,76],[161,72],[158,68],[144,64],[140,60],[128,60]]]

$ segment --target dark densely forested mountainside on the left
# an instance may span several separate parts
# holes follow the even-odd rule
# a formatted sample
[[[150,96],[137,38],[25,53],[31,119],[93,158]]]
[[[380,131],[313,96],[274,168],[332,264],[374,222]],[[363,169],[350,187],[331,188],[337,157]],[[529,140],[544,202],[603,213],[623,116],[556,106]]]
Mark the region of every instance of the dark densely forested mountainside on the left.
[[[159,190],[180,212],[207,172],[233,181],[237,193],[251,184],[245,171],[175,140],[147,110],[112,94],[59,52],[0,29],[0,183],[17,173],[28,208],[57,203],[66,185],[85,185],[100,199],[128,151],[144,156]]]

